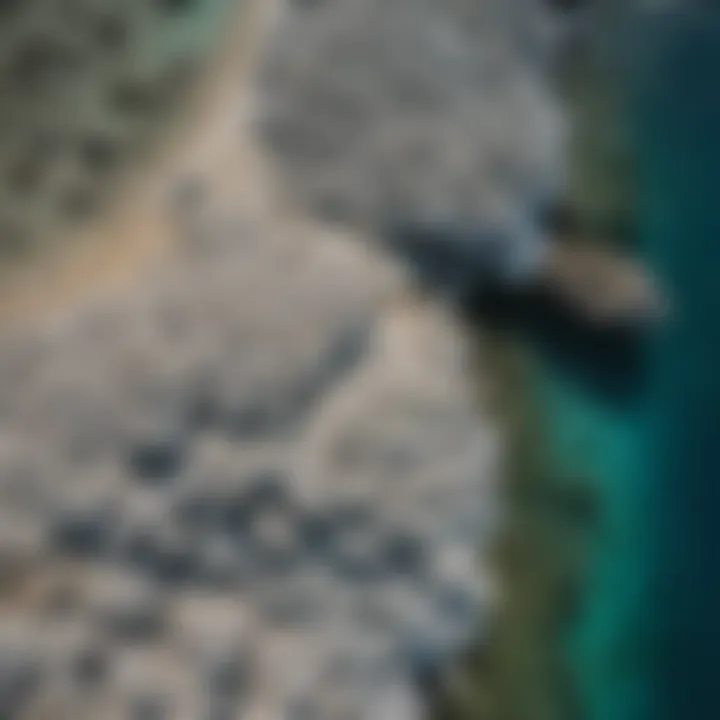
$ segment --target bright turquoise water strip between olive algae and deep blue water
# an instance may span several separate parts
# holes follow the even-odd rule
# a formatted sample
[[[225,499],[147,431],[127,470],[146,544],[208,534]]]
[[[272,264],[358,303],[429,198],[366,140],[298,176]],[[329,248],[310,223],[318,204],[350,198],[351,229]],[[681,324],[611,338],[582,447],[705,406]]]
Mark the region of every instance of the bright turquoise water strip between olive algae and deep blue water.
[[[579,706],[592,720],[638,718],[646,680],[632,644],[640,640],[653,552],[644,522],[652,488],[642,472],[640,411],[635,401],[602,401],[541,358],[535,373],[551,420],[553,467],[589,481],[600,500],[584,602],[567,639]]]

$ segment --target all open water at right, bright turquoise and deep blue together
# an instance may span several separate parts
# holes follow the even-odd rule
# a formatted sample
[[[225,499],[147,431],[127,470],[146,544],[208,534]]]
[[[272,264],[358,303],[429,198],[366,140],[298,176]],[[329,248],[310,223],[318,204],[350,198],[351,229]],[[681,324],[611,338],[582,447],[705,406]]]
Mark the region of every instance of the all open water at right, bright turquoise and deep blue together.
[[[642,31],[635,100],[643,247],[672,289],[673,317],[631,352],[632,368],[613,364],[616,340],[591,342],[588,356],[607,346],[609,359],[595,362],[607,370],[605,380],[622,384],[624,377],[632,392],[613,392],[582,362],[559,365],[546,347],[537,351],[535,387],[556,465],[589,477],[601,499],[585,600],[567,634],[584,716],[714,720],[720,21],[714,12],[694,12],[656,18]]]

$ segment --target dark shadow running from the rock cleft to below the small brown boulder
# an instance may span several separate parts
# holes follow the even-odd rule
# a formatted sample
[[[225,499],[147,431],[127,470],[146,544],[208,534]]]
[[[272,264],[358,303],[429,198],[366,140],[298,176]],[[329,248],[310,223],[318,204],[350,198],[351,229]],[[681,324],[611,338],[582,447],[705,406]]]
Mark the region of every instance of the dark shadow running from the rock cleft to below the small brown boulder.
[[[576,227],[571,213],[552,211],[546,227]],[[503,284],[506,237],[463,224],[409,222],[389,226],[384,236],[386,250],[424,292],[449,301],[471,325],[512,334],[595,401],[624,407],[641,393],[650,327],[593,323],[540,286]]]

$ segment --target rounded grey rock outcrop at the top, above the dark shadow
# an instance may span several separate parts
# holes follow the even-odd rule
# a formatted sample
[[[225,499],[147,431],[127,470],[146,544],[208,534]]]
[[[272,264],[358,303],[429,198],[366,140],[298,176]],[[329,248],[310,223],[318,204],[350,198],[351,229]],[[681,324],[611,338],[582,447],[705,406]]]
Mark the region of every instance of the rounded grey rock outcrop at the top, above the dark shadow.
[[[563,182],[535,0],[281,3],[258,128],[284,186],[332,220],[500,226]]]

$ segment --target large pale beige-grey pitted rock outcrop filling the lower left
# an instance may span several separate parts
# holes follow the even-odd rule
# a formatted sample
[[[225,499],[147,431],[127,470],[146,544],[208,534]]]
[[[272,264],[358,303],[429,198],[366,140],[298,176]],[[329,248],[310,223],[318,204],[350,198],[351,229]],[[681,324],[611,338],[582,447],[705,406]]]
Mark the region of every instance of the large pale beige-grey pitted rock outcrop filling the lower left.
[[[225,232],[6,340],[0,647],[34,680],[5,717],[416,703],[489,601],[494,430],[452,317],[349,239]]]

